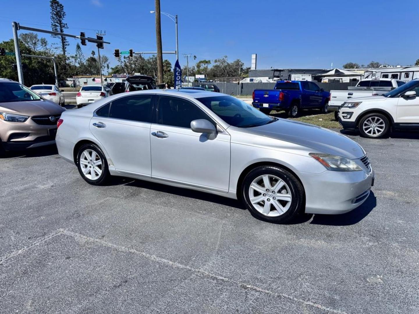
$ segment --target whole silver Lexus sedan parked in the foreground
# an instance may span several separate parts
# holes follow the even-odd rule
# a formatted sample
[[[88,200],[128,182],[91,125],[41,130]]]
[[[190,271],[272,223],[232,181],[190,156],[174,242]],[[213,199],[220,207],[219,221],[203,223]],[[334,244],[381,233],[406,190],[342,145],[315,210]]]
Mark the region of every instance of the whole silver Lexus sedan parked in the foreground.
[[[274,223],[351,211],[374,182],[365,150],[346,136],[225,94],[117,94],[65,111],[58,126],[60,156],[90,184],[118,175],[204,191]]]

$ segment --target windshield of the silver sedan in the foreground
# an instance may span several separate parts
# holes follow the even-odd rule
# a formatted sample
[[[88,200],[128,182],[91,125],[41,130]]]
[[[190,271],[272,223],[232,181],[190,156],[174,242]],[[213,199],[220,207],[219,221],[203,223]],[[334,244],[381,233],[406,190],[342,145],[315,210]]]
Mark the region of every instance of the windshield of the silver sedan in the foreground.
[[[233,96],[203,97],[197,98],[197,100],[223,121],[239,128],[261,126],[276,121]]]

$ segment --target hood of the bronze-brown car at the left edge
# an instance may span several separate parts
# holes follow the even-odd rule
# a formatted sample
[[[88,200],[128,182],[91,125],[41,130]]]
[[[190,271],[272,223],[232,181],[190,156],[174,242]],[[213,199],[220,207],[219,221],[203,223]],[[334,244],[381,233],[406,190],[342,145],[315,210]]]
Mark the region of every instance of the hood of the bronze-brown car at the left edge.
[[[0,103],[0,111],[20,113],[24,116],[42,116],[62,113],[65,109],[49,100],[15,101]]]

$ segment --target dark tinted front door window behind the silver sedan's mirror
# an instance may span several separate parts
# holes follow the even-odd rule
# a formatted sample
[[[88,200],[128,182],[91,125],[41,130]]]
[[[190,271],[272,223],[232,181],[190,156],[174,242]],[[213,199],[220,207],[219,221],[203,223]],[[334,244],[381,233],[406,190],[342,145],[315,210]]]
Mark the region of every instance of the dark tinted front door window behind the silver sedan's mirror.
[[[160,96],[157,108],[157,124],[191,128],[197,119],[212,120],[197,105],[177,97]]]

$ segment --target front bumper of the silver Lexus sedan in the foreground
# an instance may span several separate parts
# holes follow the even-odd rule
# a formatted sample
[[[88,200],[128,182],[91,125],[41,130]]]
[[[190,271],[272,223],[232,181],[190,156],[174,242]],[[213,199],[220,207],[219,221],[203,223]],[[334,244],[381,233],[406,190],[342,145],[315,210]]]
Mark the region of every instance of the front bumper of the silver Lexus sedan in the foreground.
[[[305,188],[305,212],[344,214],[368,198],[374,171],[330,171],[297,174]]]

